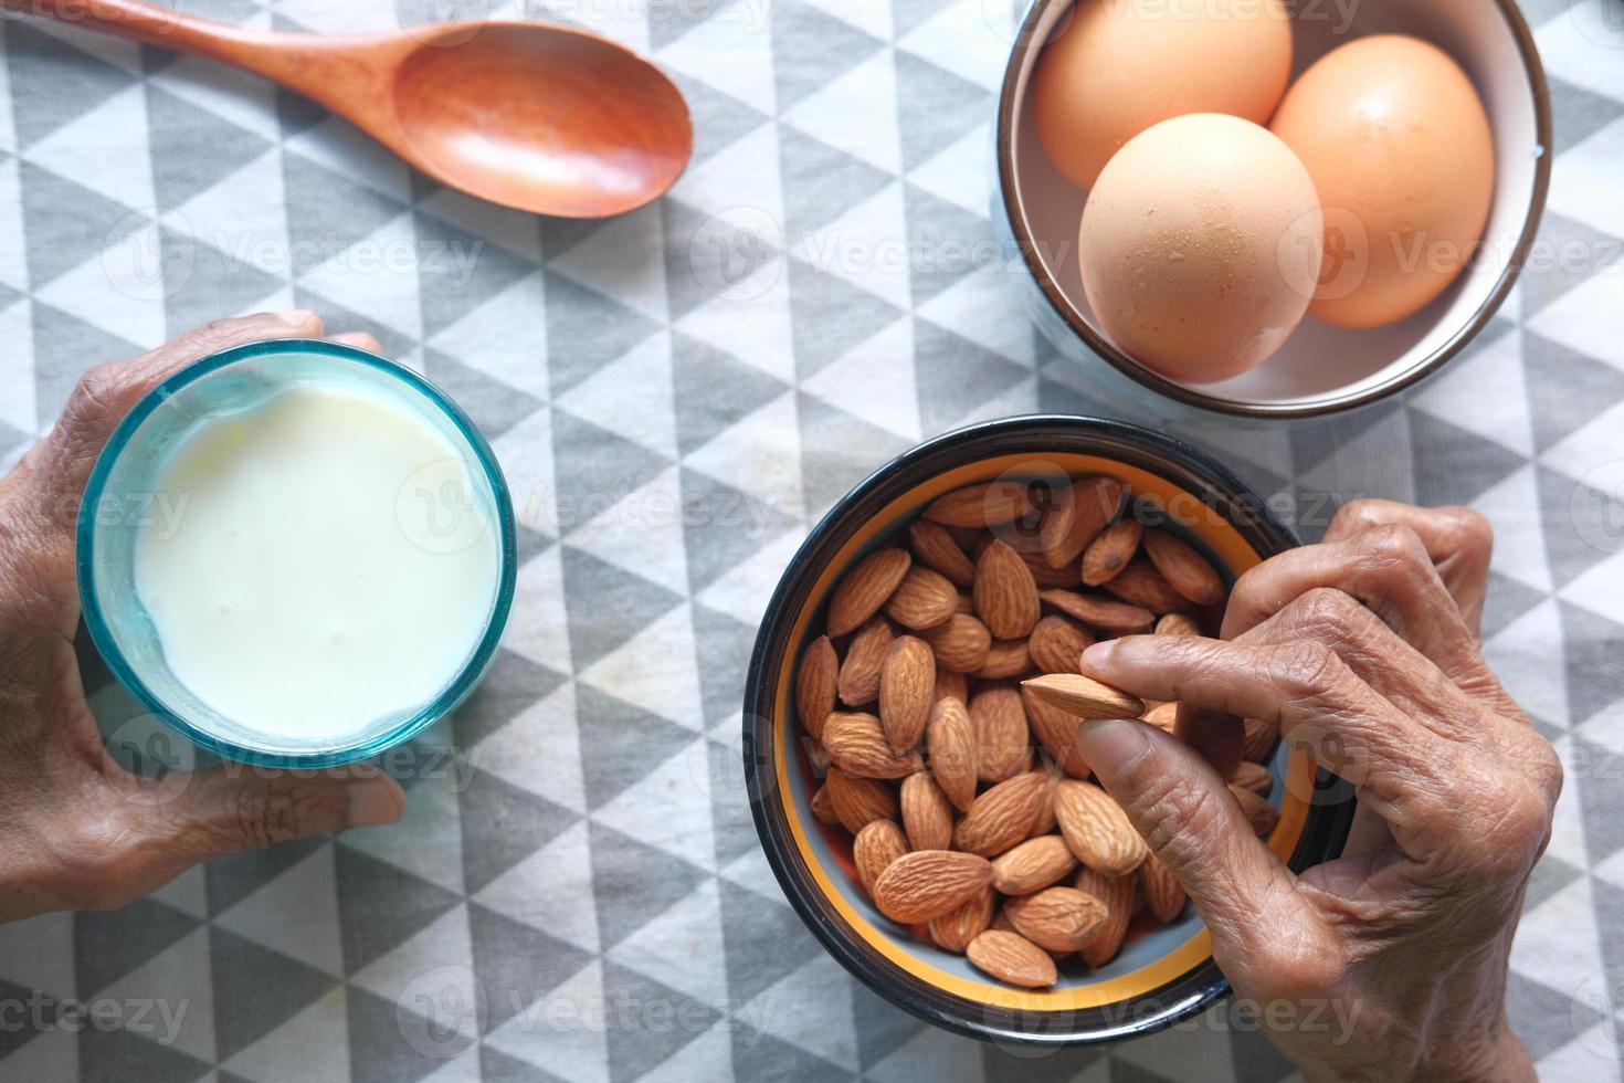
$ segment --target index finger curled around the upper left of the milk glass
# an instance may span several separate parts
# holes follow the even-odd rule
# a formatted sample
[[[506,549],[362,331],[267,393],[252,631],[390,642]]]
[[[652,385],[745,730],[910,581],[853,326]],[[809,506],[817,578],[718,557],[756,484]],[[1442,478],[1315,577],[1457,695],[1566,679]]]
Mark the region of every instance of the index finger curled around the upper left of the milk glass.
[[[260,312],[214,320],[140,357],[91,369],[80,378],[45,437],[31,474],[34,500],[45,508],[76,505],[107,437],[143,395],[177,369],[232,346],[320,334],[322,320],[310,312]],[[58,528],[71,533],[76,515],[67,518]]]

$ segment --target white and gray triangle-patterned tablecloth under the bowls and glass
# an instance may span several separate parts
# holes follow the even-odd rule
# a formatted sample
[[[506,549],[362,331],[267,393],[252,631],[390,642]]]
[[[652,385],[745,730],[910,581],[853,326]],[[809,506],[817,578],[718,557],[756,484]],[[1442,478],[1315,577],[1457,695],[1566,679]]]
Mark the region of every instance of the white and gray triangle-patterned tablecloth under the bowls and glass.
[[[0,21],[0,464],[88,365],[309,307],[461,399],[525,560],[503,649],[421,742],[398,826],[0,926],[0,1080],[1289,1075],[1224,1012],[1038,1059],[924,1026],[806,932],[741,792],[745,659],[820,511],[961,422],[1112,409],[987,247],[1004,0],[185,6],[312,31],[581,23],[674,73],[698,146],[654,206],[542,221],[255,78]],[[1499,528],[1488,654],[1569,763],[1512,1015],[1546,1078],[1590,1081],[1619,1078],[1624,1036],[1624,5],[1523,6],[1556,97],[1548,258],[1405,403],[1203,438],[1302,508],[1466,502]],[[70,999],[122,1026],[55,1025]],[[29,1003],[44,1025],[16,1025]]]

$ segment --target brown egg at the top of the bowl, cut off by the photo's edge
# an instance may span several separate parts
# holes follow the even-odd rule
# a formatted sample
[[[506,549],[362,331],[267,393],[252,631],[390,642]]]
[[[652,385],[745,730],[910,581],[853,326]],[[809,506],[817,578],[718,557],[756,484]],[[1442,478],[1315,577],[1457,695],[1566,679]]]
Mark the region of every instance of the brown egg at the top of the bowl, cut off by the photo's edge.
[[[1268,123],[1291,76],[1285,0],[1078,0],[1033,75],[1044,153],[1090,188],[1129,140],[1192,112]]]

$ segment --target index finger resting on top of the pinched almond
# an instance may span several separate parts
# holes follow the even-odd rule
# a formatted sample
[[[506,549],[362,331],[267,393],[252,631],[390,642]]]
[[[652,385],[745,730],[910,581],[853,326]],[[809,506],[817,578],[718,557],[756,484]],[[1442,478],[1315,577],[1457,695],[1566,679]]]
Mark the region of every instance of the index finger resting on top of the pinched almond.
[[[1457,757],[1320,643],[1250,645],[1135,635],[1083,651],[1083,671],[1151,700],[1259,718],[1354,784],[1389,822],[1423,818]]]

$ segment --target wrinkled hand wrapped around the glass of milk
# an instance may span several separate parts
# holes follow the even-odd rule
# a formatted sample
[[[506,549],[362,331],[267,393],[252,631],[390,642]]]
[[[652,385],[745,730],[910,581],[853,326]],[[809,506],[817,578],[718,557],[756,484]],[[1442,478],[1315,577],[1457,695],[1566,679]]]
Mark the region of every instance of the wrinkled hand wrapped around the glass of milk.
[[[365,766],[227,765],[154,789],[107,755],[73,651],[78,505],[119,421],[206,354],[320,336],[322,321],[309,312],[260,313],[93,369],[50,435],[0,479],[0,921],[122,906],[218,854],[400,818],[400,784]],[[367,334],[335,339],[378,349]]]

